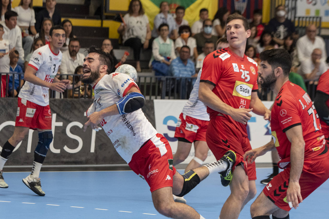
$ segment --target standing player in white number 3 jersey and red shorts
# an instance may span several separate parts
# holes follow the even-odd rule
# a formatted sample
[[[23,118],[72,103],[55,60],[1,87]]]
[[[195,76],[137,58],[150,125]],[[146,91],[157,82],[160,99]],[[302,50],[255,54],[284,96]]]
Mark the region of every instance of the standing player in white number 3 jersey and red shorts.
[[[3,145],[0,154],[0,187],[8,188],[2,176],[4,164],[29,129],[38,131],[39,141],[34,151],[32,172],[23,179],[23,183],[40,196],[44,196],[45,193],[41,189],[39,173],[49,144],[53,140],[49,89],[63,92],[69,86],[69,80],[59,80],[55,77],[62,61],[60,49],[65,42],[63,27],[52,27],[49,41],[50,44],[38,48],[31,56],[24,74],[26,82],[18,94],[14,133]]]

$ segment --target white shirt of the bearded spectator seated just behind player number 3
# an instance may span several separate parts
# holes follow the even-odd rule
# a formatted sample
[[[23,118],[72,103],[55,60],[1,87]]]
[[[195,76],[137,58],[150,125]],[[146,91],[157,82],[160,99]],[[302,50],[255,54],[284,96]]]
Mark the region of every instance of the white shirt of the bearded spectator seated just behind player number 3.
[[[83,59],[85,55],[82,53],[77,53],[75,60],[71,58],[70,53],[68,50],[63,52],[62,64],[60,67],[61,74],[64,75],[71,75],[74,74],[76,67],[82,65],[84,63]]]

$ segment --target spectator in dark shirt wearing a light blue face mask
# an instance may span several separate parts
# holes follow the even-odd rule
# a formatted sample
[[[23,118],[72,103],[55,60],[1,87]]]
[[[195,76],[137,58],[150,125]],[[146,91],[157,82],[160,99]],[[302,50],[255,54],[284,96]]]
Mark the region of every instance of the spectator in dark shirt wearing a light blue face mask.
[[[198,51],[198,54],[202,53],[202,48],[206,41],[210,41],[216,44],[218,37],[212,35],[212,31],[213,22],[210,19],[206,19],[203,21],[203,31],[193,36],[196,39],[196,49]]]

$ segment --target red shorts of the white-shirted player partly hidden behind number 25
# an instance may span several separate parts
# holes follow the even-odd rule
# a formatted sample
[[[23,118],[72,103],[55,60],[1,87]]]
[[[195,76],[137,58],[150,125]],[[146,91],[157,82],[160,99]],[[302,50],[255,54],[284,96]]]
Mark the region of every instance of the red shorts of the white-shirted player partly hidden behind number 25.
[[[205,142],[208,123],[209,121],[198,120],[181,113],[175,130],[175,138],[185,138],[189,142]]]

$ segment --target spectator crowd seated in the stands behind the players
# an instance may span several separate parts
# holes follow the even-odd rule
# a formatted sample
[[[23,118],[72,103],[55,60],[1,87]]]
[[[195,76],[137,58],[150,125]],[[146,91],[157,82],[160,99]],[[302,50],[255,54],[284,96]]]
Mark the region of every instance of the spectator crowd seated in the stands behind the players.
[[[80,72],[77,68],[83,64],[84,59],[84,54],[79,52],[80,41],[74,35],[72,22],[62,22],[60,10],[56,9],[56,0],[46,0],[46,7],[38,13],[32,8],[32,1],[21,0],[17,7],[11,8],[9,1],[2,0],[0,6],[2,91],[6,90],[6,84],[11,83],[8,86],[8,94],[13,97],[17,96],[19,86],[24,83],[24,69],[33,51],[49,44],[49,31],[52,26],[62,25],[66,35],[61,49],[61,77],[73,83],[79,82],[79,78],[75,79],[69,75]],[[208,9],[203,8],[199,11],[199,19],[189,24],[184,19],[184,7],[178,6],[175,14],[170,13],[166,1],[161,2],[159,7],[160,12],[155,16],[151,30],[142,3],[140,0],[132,0],[117,29],[122,37],[122,44],[132,48],[137,72],[142,71],[140,54],[143,50],[152,50],[149,67],[155,76],[192,77],[194,80],[191,81],[194,83],[204,58],[216,49],[219,42],[225,41],[225,22],[231,12],[222,7],[213,19],[209,19]],[[286,17],[285,7],[279,5],[275,8],[275,17],[266,25],[262,23],[262,10],[254,10],[250,19],[250,37],[245,55],[258,62],[258,56],[264,50],[286,49],[292,58],[291,72],[300,75],[306,84],[316,85],[319,77],[328,70],[325,42],[317,35],[316,25],[309,24],[306,34],[299,36],[292,21]],[[113,56],[113,72],[129,55],[125,53],[122,57],[115,57],[110,39],[104,39],[99,47]],[[15,74],[7,77],[3,73]],[[4,96],[4,93],[1,92],[1,95]]]

